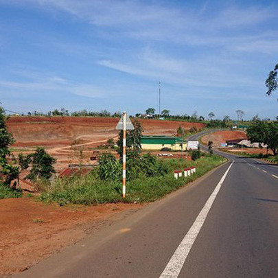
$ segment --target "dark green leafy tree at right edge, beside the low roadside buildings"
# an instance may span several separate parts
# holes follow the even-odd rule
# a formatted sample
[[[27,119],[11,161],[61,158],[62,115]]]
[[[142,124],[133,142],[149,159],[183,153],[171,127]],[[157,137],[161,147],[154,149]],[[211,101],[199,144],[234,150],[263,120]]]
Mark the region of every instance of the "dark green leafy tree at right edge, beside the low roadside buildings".
[[[247,137],[251,143],[264,143],[277,154],[278,149],[278,123],[266,121],[254,121],[251,126],[247,128]]]

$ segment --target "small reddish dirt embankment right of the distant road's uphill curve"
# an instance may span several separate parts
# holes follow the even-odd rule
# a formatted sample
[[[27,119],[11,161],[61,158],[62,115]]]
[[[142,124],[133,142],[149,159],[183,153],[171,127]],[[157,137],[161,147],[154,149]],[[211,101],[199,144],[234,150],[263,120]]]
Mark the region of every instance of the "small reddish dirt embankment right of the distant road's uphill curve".
[[[209,141],[213,141],[213,147],[220,147],[221,143],[226,143],[227,140],[247,139],[247,135],[242,130],[223,130],[213,132],[202,137],[202,142],[207,145]]]

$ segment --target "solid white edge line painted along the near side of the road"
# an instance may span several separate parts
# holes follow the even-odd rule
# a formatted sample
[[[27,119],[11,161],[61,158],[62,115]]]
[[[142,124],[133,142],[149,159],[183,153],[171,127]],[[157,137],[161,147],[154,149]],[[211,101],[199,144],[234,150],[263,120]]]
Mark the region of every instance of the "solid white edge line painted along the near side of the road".
[[[235,161],[233,160],[233,163]],[[195,222],[192,224],[192,227],[189,229],[187,234],[185,235],[185,238],[181,241],[178,248],[176,248],[176,251],[172,255],[170,261],[168,262],[167,266],[163,270],[163,273],[161,273],[160,278],[176,278],[178,277],[179,273],[181,272],[181,268],[183,268],[183,264],[185,263],[185,259],[187,258],[187,255],[189,254],[192,245],[194,244],[198,233],[200,232],[200,229],[202,228],[202,224],[204,224],[205,219],[207,218],[207,214],[209,213],[209,210],[211,209],[211,206],[220,191],[220,188],[222,186],[222,183],[224,182],[224,179],[226,178],[229,170],[231,169],[233,163],[229,166],[227,171],[224,173],[222,178],[220,179],[218,185],[216,185],[216,188],[211,193],[211,196],[209,196],[207,202],[205,203],[205,206],[202,208],[200,213],[198,214]]]

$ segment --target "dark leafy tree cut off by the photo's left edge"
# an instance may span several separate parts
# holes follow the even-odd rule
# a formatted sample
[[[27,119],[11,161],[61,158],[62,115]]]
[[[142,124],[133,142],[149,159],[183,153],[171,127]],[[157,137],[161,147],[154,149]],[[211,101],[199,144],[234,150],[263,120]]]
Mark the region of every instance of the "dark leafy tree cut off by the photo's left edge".
[[[12,157],[9,147],[14,143],[12,133],[8,132],[5,124],[8,117],[5,116],[5,110],[0,106],[0,182],[10,186],[12,180],[19,176],[19,167],[8,163],[8,157]],[[14,157],[12,161],[15,162]],[[16,183],[13,185],[15,188]]]

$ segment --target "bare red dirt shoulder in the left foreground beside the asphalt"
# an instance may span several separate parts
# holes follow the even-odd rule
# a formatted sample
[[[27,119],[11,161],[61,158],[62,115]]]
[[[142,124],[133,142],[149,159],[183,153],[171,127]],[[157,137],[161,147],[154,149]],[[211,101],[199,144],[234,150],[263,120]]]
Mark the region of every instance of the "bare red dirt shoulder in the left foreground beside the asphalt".
[[[0,277],[23,271],[143,206],[58,207],[32,198],[0,200]]]

